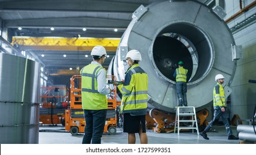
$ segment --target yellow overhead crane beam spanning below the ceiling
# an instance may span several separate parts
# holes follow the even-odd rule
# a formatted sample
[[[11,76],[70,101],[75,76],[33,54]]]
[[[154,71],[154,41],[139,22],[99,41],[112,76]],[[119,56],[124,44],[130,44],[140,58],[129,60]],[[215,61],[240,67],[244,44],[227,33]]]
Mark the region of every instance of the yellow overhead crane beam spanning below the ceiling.
[[[107,51],[116,51],[120,38],[61,38],[61,37],[13,37],[12,45],[26,50],[91,50],[102,45]]]

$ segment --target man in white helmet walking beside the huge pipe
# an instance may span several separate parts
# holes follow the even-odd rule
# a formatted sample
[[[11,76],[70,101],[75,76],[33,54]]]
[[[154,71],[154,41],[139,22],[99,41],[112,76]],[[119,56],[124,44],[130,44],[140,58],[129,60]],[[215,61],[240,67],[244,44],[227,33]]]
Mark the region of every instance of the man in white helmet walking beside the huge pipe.
[[[226,111],[226,98],[225,98],[224,89],[222,86],[222,84],[224,83],[224,76],[222,74],[217,74],[215,76],[215,81],[217,81],[217,85],[214,86],[213,88],[213,108],[214,108],[213,120],[209,122],[207,127],[203,130],[203,132],[200,133],[200,135],[204,139],[208,140],[209,138],[207,137],[206,132],[210,130],[210,128],[213,125],[213,122],[218,120],[219,117],[221,117],[228,133],[228,139],[239,139],[238,137],[235,137],[233,135],[231,127],[229,126],[229,123],[228,123],[227,111]]]

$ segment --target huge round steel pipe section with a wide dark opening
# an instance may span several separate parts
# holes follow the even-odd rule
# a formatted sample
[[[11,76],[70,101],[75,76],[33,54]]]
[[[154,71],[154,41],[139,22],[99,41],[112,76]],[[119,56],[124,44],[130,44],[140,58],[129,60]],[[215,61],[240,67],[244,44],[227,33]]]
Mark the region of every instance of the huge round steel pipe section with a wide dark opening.
[[[172,75],[182,60],[189,70],[188,105],[201,110],[213,100],[216,74],[223,74],[226,85],[231,84],[236,68],[232,44],[227,24],[204,4],[157,1],[134,12],[107,74],[124,79],[127,51],[139,50],[140,65],[149,76],[149,107],[173,112],[178,101]]]

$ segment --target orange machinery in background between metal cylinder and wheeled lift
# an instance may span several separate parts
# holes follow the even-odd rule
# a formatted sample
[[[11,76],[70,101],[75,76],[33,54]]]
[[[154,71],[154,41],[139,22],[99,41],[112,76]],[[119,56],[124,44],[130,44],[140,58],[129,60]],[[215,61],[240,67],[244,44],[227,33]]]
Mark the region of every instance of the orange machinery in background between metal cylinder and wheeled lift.
[[[65,126],[65,110],[68,108],[68,92],[65,86],[41,87],[40,116],[42,125]]]

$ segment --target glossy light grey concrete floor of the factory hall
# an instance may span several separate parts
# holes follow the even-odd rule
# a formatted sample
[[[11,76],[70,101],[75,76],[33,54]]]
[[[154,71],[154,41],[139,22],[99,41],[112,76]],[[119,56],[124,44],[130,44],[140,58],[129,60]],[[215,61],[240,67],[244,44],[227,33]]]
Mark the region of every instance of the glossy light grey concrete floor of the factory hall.
[[[207,133],[209,140],[203,139],[202,136],[194,133],[180,132],[177,133],[156,133],[147,130],[149,144],[239,144],[239,140],[228,140],[227,132],[224,126],[213,126],[214,131]],[[65,131],[62,126],[40,126],[39,128],[39,144],[81,144],[83,133],[72,136],[71,133]],[[232,131],[237,136],[236,126],[232,126]],[[127,133],[122,132],[122,128],[117,127],[115,135],[104,133],[101,138],[103,144],[126,144]],[[139,142],[139,135],[136,135],[136,143]]]

